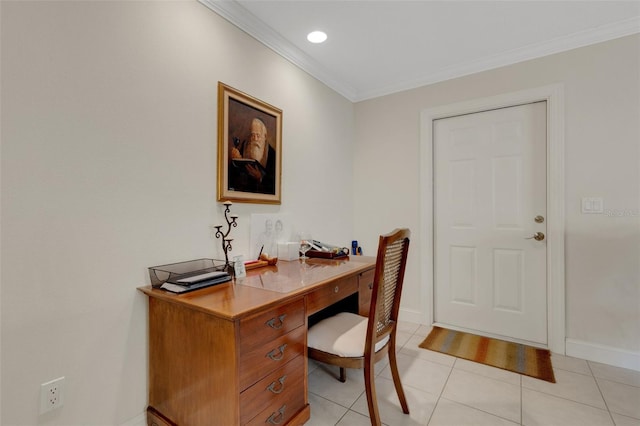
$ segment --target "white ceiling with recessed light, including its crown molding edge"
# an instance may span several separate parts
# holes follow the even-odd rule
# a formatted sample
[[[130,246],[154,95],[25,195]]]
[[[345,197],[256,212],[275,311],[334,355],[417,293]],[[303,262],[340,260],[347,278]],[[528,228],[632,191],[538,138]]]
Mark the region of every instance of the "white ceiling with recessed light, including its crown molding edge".
[[[640,32],[640,0],[200,2],[354,102]]]

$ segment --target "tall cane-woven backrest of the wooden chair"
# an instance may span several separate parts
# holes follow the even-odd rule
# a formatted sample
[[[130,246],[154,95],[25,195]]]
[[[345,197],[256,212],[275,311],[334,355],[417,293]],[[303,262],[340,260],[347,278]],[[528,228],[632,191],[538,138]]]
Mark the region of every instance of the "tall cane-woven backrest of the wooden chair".
[[[408,229],[396,229],[380,236],[369,311],[368,341],[374,345],[393,331],[398,319],[409,239]]]

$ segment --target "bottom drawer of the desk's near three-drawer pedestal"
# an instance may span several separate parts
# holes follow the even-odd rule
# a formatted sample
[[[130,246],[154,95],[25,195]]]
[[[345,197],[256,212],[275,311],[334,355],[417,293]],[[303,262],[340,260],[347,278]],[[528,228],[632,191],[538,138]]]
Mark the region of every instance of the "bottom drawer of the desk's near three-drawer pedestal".
[[[240,423],[247,423],[269,406],[290,406],[293,394],[304,394],[303,356],[294,358],[240,394]]]

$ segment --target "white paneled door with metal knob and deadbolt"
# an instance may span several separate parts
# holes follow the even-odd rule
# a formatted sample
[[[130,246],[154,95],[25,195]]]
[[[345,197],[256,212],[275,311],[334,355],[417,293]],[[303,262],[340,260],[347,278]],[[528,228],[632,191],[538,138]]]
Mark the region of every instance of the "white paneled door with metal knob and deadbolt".
[[[437,324],[547,344],[546,132],[546,102],[434,120]]]

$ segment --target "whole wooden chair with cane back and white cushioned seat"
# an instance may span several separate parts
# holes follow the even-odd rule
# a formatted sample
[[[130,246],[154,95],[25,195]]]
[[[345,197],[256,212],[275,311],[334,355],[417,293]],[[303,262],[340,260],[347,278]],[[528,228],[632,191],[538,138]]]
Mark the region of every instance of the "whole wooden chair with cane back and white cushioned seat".
[[[402,411],[409,414],[396,360],[398,310],[409,237],[408,229],[395,229],[380,236],[368,317],[341,312],[312,326],[308,333],[309,358],[339,366],[341,382],[346,380],[345,368],[364,368],[372,425],[380,425],[374,365],[387,354]]]

